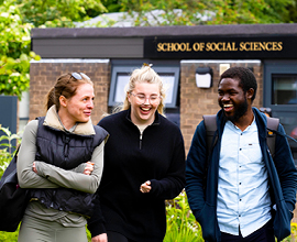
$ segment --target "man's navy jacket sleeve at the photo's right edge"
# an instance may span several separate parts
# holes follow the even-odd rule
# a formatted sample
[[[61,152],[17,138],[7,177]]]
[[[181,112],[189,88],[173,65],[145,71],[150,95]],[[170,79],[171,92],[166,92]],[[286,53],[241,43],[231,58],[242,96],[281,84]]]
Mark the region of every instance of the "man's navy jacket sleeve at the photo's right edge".
[[[277,131],[285,134],[285,130],[282,124],[279,124]],[[288,141],[283,135],[276,135],[274,163],[277,169],[284,199],[288,209],[293,211],[296,204],[297,170]]]

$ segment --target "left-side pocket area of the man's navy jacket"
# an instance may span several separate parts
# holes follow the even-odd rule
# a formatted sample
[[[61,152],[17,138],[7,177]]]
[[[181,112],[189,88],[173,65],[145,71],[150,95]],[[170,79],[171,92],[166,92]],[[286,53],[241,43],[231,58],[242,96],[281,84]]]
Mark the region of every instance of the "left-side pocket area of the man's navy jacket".
[[[202,235],[207,242],[217,242],[219,237],[219,226],[217,220],[217,210],[215,206],[205,204],[197,221],[202,228]]]

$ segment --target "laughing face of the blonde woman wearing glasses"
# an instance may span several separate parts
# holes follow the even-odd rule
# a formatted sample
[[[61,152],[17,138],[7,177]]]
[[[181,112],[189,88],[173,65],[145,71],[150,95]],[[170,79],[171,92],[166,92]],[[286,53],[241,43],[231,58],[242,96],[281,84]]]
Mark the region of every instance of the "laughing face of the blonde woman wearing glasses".
[[[144,101],[138,96],[144,96]],[[135,88],[128,94],[131,103],[131,120],[134,124],[151,124],[154,122],[155,112],[160,105],[160,98],[150,101],[151,97],[160,97],[160,88],[157,84],[135,82]]]

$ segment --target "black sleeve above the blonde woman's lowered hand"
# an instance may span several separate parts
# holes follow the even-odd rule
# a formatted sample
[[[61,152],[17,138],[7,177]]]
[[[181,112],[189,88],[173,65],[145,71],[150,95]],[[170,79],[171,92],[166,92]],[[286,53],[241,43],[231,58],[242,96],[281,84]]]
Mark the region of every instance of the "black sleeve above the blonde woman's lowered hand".
[[[107,232],[105,227],[105,218],[101,212],[99,195],[97,195],[97,198],[95,200],[94,215],[90,219],[88,219],[88,230],[91,233],[91,238]]]

